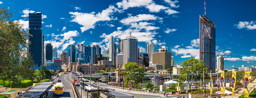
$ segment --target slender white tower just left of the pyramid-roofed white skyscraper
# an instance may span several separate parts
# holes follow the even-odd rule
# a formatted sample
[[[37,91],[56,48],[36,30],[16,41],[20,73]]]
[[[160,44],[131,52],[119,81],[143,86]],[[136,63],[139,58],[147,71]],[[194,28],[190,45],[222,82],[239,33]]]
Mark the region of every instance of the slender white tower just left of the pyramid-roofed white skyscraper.
[[[114,37],[111,35],[109,37],[109,61],[112,61],[114,65]]]

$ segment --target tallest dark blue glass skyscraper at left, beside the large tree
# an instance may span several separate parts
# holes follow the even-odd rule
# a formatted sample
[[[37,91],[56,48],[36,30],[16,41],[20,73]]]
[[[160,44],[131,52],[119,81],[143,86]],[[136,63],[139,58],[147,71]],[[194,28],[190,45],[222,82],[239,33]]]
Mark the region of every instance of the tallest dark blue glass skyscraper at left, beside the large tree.
[[[29,45],[31,52],[32,60],[34,60],[35,65],[41,66],[43,64],[43,43],[42,40],[42,13],[29,13],[29,33],[32,36],[29,36]]]

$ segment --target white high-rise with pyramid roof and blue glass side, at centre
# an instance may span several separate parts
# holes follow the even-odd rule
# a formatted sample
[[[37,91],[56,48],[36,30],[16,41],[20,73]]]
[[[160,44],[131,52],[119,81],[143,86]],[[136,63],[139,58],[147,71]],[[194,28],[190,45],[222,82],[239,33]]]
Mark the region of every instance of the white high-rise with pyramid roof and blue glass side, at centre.
[[[123,40],[123,64],[127,62],[138,62],[138,39],[132,34]]]

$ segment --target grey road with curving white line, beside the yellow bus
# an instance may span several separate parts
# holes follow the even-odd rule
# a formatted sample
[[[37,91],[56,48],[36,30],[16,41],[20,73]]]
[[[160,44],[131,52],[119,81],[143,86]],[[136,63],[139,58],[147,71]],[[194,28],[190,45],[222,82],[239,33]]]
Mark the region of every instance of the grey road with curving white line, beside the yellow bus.
[[[75,98],[71,87],[71,73],[63,74],[60,77],[61,82],[64,84],[63,95],[54,95],[52,98]]]

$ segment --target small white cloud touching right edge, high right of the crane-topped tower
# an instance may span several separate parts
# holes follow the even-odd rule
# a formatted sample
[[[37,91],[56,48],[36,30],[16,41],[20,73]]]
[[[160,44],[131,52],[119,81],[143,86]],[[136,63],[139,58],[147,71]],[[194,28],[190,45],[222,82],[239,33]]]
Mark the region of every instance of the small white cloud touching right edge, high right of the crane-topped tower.
[[[240,21],[238,22],[238,24],[235,24],[235,27],[237,27],[238,29],[247,28],[247,30],[253,30],[256,29],[256,21]]]

